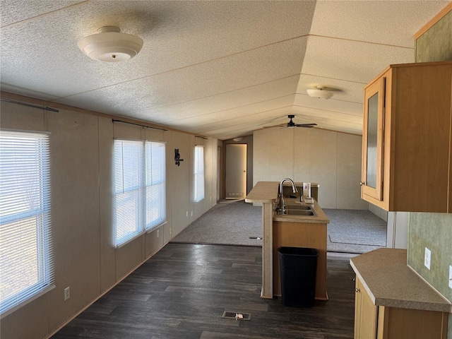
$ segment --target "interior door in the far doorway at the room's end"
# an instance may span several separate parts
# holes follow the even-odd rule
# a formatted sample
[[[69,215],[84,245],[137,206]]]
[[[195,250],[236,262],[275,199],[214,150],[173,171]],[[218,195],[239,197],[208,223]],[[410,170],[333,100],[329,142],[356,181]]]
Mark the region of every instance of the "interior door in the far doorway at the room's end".
[[[226,145],[226,198],[239,199],[246,196],[246,145]]]

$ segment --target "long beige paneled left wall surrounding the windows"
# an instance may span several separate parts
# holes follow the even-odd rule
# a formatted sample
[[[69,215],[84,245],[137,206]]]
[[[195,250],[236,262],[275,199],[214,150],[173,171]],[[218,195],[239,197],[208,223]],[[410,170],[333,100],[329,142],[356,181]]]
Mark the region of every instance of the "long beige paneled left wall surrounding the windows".
[[[1,104],[4,129],[49,131],[55,288],[1,319],[0,337],[41,339],[107,292],[210,209],[217,189],[216,139],[159,131],[76,112]],[[165,141],[167,224],[114,248],[113,138]],[[195,140],[196,139],[196,140]],[[199,140],[198,140],[199,139]],[[205,145],[206,198],[193,202],[193,149]],[[184,162],[174,165],[174,148]],[[188,216],[187,216],[188,215]],[[71,297],[64,302],[64,288]]]

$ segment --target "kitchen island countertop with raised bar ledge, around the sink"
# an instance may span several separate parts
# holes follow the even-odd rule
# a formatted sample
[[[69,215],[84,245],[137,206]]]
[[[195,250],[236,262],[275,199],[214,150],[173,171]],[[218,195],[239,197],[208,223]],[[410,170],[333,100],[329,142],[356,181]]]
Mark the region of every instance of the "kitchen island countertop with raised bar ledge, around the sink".
[[[253,187],[251,192],[246,196],[245,201],[247,203],[275,203],[278,201],[278,186],[279,182],[258,182],[256,186]],[[295,183],[299,184],[299,183]],[[313,185],[319,186],[319,184],[311,183]],[[284,198],[286,203],[297,201],[294,198]],[[323,212],[319,204],[314,201],[314,204],[309,204],[314,210],[313,216],[304,215],[277,215],[273,213],[274,221],[288,221],[288,222],[313,222],[313,223],[329,223],[330,220]],[[273,208],[274,210],[274,208]]]

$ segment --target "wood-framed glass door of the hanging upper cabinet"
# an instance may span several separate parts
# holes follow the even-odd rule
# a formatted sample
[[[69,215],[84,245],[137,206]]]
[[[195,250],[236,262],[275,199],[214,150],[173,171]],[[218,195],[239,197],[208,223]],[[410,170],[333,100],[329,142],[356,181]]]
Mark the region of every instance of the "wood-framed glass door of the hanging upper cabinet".
[[[385,78],[372,83],[364,94],[362,194],[379,201],[383,180],[383,114]]]

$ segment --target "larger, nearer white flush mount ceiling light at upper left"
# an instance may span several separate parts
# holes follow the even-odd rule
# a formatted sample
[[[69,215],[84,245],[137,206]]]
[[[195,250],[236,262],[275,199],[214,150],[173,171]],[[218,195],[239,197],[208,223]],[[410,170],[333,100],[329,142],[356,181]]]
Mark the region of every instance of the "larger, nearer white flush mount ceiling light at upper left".
[[[96,34],[78,40],[78,48],[91,59],[106,62],[129,60],[140,52],[143,40],[136,35],[121,33],[119,28],[105,26]]]

